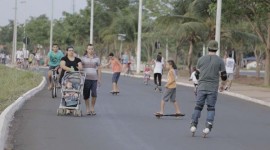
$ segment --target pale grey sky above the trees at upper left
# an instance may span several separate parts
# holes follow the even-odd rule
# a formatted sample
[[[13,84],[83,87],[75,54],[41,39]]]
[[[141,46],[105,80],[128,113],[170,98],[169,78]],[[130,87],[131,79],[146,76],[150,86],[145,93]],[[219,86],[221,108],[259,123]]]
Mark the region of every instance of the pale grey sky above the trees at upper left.
[[[23,24],[25,19],[29,19],[30,16],[38,17],[42,14],[46,14],[48,18],[51,18],[52,0],[17,1],[18,24]],[[87,0],[53,0],[54,19],[61,18],[63,11],[72,13],[73,1],[75,12],[79,12],[80,9],[84,9],[87,5]],[[0,26],[5,26],[9,23],[9,20],[14,20],[15,18],[15,0],[0,0],[0,6]]]

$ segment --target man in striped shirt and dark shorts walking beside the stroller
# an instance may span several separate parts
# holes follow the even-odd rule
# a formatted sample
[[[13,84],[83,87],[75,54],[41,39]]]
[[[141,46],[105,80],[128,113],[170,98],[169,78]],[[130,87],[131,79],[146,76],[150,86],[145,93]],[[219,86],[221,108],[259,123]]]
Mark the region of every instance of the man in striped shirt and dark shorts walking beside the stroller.
[[[87,115],[96,115],[95,104],[97,99],[97,87],[101,84],[101,67],[100,59],[95,55],[94,46],[88,44],[87,50],[82,57],[83,71],[86,78],[83,88],[83,97],[85,100]],[[89,98],[91,94],[91,107]]]

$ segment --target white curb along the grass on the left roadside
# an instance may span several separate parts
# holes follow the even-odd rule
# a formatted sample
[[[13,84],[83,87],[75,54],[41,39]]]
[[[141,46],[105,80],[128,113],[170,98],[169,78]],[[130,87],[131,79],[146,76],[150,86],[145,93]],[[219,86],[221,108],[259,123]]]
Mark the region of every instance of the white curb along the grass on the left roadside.
[[[46,78],[43,77],[42,82],[35,88],[29,90],[15,102],[9,105],[0,115],[0,150],[4,150],[5,143],[8,138],[9,126],[14,118],[14,114],[21,108],[26,100],[34,96],[36,93],[41,91],[46,85]]]

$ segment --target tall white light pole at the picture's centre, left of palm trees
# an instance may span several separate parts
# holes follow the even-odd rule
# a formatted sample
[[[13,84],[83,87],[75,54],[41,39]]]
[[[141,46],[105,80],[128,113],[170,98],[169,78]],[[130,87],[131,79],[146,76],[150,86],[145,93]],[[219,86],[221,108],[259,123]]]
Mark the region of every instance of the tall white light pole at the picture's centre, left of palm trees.
[[[141,66],[141,34],[142,34],[142,0],[140,0],[140,2],[139,2],[138,41],[137,41],[137,73],[140,73],[140,66]]]

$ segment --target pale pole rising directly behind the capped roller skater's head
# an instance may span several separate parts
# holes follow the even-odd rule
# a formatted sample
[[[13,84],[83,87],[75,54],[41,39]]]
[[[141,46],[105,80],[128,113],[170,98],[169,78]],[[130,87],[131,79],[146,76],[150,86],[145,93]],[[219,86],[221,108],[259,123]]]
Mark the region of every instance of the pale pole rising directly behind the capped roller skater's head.
[[[215,40],[218,42],[217,55],[220,56],[220,28],[221,28],[221,7],[222,0],[217,0],[217,15],[216,15],[216,34]]]

